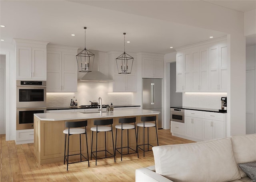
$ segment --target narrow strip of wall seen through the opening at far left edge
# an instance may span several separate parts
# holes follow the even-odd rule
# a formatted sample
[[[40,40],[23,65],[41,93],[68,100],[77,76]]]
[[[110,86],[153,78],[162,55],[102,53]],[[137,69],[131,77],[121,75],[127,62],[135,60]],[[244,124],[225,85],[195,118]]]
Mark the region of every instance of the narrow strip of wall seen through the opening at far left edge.
[[[5,134],[5,55],[0,55],[0,134]]]

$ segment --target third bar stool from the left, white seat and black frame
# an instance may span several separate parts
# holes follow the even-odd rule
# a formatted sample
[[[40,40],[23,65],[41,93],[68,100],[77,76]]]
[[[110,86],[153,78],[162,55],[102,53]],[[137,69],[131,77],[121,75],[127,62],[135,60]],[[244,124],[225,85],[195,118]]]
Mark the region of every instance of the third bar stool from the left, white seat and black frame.
[[[130,118],[119,118],[118,123],[121,123],[120,125],[115,125],[116,128],[116,140],[117,140],[117,129],[121,129],[121,148],[116,148],[115,147],[115,152],[118,151],[118,149],[121,149],[121,152],[118,151],[118,153],[121,154],[121,161],[122,161],[122,155],[127,155],[127,154],[134,154],[137,153],[138,154],[138,143],[137,143],[137,135],[136,135],[136,126],[135,126],[135,122],[136,122],[136,117],[130,117]],[[127,124],[127,123],[134,123],[132,124]],[[127,147],[123,147],[123,130],[126,129],[127,130]],[[129,129],[134,129],[135,130],[135,137],[136,137],[136,151],[134,149],[132,149],[131,147],[129,147]],[[128,153],[127,154],[123,154],[123,148],[127,148]],[[131,149],[132,151],[134,151],[133,153],[129,153],[129,149]],[[139,154],[138,154],[138,158],[139,158]]]

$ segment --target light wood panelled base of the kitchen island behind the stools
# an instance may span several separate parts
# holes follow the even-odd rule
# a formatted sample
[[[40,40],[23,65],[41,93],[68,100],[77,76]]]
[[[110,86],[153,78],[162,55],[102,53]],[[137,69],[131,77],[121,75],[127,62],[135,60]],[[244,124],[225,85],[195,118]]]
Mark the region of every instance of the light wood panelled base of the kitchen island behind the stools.
[[[118,111],[116,111],[118,113]],[[61,113],[60,113],[61,114]],[[142,113],[143,114],[143,113]],[[85,114],[86,115],[86,114]],[[118,114],[117,114],[118,115]],[[147,113],[146,116],[156,115],[158,123],[158,112],[155,114]],[[140,122],[140,117],[142,115],[129,115],[126,117],[136,117],[136,123]],[[122,116],[124,117],[124,116]],[[88,121],[87,126],[87,137],[88,137],[88,151],[89,151],[89,158],[90,158],[90,151],[91,151],[91,140],[92,140],[92,131],[90,128],[94,126],[93,122],[94,119],[110,119],[113,118],[113,135],[114,135],[114,143],[116,141],[116,129],[115,125],[119,124],[118,119],[120,117],[115,117],[112,115],[111,117],[96,117],[90,119],[68,119],[68,120],[57,120],[51,121],[47,120],[47,118],[40,119],[40,117],[34,116],[34,147],[35,147],[35,156],[38,160],[39,164],[49,164],[54,162],[61,162],[64,161],[64,144],[65,144],[65,134],[63,130],[65,128],[65,121]],[[136,127],[137,130],[137,127]],[[127,146],[127,130],[123,131],[123,146]],[[143,143],[143,130],[142,127],[139,127],[139,136],[138,136],[138,145]],[[113,144],[112,144],[112,136],[111,132],[107,132],[107,150],[113,153]],[[145,129],[145,136],[147,136],[147,129]],[[82,153],[87,155],[86,151],[86,140],[85,135],[81,135],[82,139]],[[156,131],[154,127],[149,128],[149,139],[150,144],[157,145],[156,140]],[[147,137],[145,137],[145,143],[147,143]],[[94,142],[93,142],[93,151],[95,151],[96,144],[96,133],[94,133]],[[80,152],[79,148],[79,135],[71,135],[70,136],[70,145],[69,151],[70,154],[76,154]],[[129,146],[136,149],[136,137],[134,134],[134,130],[129,130]],[[118,130],[117,135],[117,148],[121,147],[121,131]],[[98,151],[104,150],[104,132],[98,133]],[[126,151],[123,150],[123,153]],[[98,156],[104,155],[105,153],[98,153]],[[80,158],[79,155],[71,156],[70,159],[78,159]],[[94,159],[94,157],[92,157]]]

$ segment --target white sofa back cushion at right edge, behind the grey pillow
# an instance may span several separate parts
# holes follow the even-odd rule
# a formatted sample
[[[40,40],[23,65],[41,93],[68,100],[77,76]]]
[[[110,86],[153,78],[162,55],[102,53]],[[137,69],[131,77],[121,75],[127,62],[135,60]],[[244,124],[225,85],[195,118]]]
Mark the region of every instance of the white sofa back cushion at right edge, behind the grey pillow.
[[[236,164],[256,161],[256,134],[231,137]],[[241,177],[246,174],[238,167]]]

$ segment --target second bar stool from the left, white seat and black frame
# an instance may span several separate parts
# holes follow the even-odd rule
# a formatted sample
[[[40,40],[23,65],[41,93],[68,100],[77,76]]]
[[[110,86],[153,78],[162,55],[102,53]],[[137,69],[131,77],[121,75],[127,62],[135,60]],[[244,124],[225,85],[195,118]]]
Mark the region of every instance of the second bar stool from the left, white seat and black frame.
[[[91,131],[92,131],[92,144],[93,144],[93,133],[94,133],[94,131],[96,131],[96,151],[92,151],[92,147],[91,147],[91,160],[92,160],[92,155],[93,155],[95,157],[95,159],[96,159],[95,165],[97,165],[97,152],[105,151],[105,157],[102,157],[102,158],[99,158],[99,159],[108,158],[107,157],[107,153],[109,153],[111,155],[109,157],[114,157],[114,161],[116,162],[115,149],[114,149],[114,137],[113,137],[113,129],[112,129],[113,119],[95,119],[93,123],[96,126],[91,127]],[[110,126],[105,126],[105,125],[111,125],[111,127]],[[105,150],[97,151],[98,132],[102,132],[102,131],[105,132]],[[107,145],[106,145],[106,132],[107,131],[111,131],[112,132],[112,142],[113,142],[114,154],[112,154],[109,151],[107,151]],[[96,155],[94,155],[94,153],[96,153]]]

